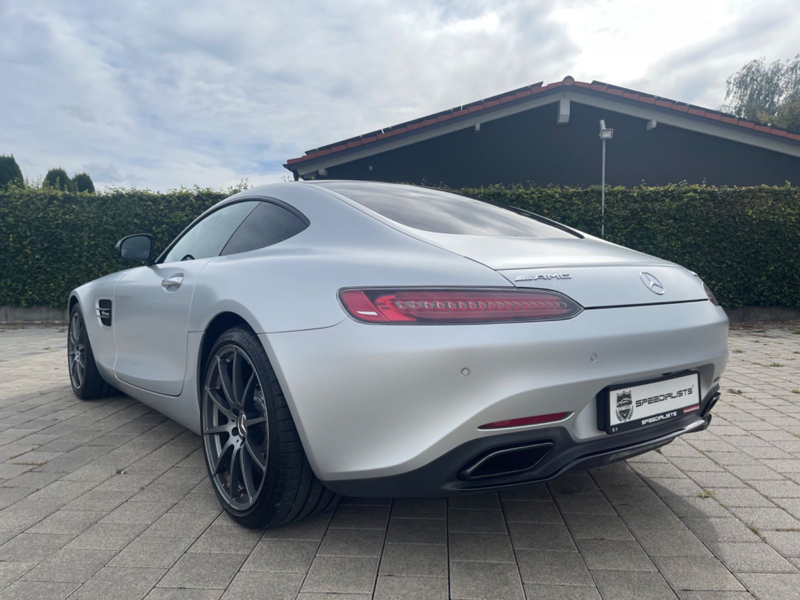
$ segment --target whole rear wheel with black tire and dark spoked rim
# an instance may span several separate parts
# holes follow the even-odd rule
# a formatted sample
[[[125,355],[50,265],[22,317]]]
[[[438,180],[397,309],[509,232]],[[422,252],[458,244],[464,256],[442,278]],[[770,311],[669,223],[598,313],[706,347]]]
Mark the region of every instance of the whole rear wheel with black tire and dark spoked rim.
[[[280,526],[338,502],[311,470],[278,378],[252,331],[235,326],[222,334],[201,382],[206,469],[234,521]]]

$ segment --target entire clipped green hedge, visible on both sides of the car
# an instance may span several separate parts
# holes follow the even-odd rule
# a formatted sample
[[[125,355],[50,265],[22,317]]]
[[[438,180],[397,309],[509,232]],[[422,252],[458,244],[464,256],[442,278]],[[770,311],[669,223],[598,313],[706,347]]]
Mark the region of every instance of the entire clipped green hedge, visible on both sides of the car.
[[[161,250],[234,191],[0,190],[0,306],[63,307],[74,286],[129,266],[114,256],[123,235],[154,234]],[[597,186],[463,192],[599,234]],[[723,306],[800,307],[798,187],[607,188],[606,238],[697,271]]]

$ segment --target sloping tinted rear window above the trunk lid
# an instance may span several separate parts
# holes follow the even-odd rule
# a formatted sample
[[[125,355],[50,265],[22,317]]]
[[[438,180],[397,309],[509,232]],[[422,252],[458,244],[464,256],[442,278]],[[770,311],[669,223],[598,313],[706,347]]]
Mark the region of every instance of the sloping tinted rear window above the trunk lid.
[[[372,182],[318,183],[409,227],[438,234],[576,238],[534,215],[424,187]]]

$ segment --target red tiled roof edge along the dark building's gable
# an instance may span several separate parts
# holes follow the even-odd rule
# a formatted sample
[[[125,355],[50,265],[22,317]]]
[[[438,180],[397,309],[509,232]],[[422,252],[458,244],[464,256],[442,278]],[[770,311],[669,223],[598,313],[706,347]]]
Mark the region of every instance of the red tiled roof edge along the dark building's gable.
[[[349,140],[343,140],[342,142],[334,142],[334,144],[328,144],[326,146],[322,146],[322,148],[310,150],[309,152],[306,152],[304,156],[290,158],[286,161],[286,167],[290,165],[296,165],[298,162],[306,162],[313,160],[314,158],[321,158],[322,156],[326,156],[328,154],[335,154],[349,148],[368,146],[374,142],[380,142],[382,139],[386,139],[394,135],[406,134],[409,131],[421,130],[426,127],[436,126],[438,123],[446,122],[453,118],[479,113],[482,110],[489,110],[495,106],[505,104],[506,102],[514,102],[522,98],[527,98],[533,94],[540,94],[547,90],[554,90],[555,88],[561,86],[575,86],[582,88],[582,90],[592,90],[598,93],[622,97],[627,100],[645,102],[646,104],[653,104],[654,106],[659,106],[661,108],[677,110],[678,112],[692,114],[697,117],[709,118],[717,122],[726,123],[728,125],[738,125],[741,127],[746,127],[750,130],[759,131],[764,134],[771,134],[778,136],[779,138],[791,139],[796,142],[800,142],[800,134],[793,134],[789,131],[779,129],[778,127],[759,125],[757,123],[747,121],[746,119],[736,118],[732,114],[721,113],[718,110],[707,110],[702,109],[699,106],[689,106],[685,103],[675,102],[667,98],[659,98],[658,96],[651,94],[642,94],[642,92],[638,92],[636,90],[627,90],[626,88],[611,86],[603,82],[576,82],[573,78],[567,76],[563,81],[549,83],[546,86],[542,86],[541,82],[535,83],[532,86],[526,86],[524,88],[520,88],[519,90],[511,90],[504,94],[498,94],[490,99],[471,102],[470,104],[454,108],[453,110],[444,111],[441,114],[430,114],[425,117],[415,119],[411,122],[402,123],[401,126],[387,127],[386,130],[374,132],[373,134],[369,134],[367,137],[351,138]]]

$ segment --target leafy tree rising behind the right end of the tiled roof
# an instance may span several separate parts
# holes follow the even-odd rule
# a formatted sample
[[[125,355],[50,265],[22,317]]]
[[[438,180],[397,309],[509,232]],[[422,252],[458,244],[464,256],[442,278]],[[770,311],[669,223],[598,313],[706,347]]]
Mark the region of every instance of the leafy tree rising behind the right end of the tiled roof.
[[[800,54],[785,62],[766,63],[765,58],[747,62],[726,81],[725,102],[721,106],[737,117],[798,129],[800,101]],[[781,123],[787,123],[782,125]]]

